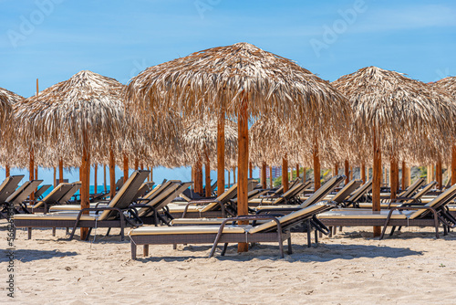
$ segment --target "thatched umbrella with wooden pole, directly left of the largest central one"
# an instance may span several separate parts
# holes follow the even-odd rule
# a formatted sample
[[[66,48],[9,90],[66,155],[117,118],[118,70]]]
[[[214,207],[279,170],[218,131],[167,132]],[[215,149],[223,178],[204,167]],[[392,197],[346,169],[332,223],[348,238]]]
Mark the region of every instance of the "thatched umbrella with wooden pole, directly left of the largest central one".
[[[16,137],[31,149],[58,146],[62,138],[74,144],[81,158],[82,208],[88,207],[90,153],[114,142],[125,121],[122,89],[116,79],[81,71],[15,105]],[[81,237],[87,232],[81,230]]]

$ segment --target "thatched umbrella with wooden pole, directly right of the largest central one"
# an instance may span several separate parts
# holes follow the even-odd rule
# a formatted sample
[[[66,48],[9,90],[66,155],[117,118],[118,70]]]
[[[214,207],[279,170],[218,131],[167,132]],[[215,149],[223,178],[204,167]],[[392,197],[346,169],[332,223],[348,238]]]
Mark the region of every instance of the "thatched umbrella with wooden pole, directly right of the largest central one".
[[[364,135],[367,141],[358,143],[356,149],[363,145],[373,147],[372,207],[379,210],[381,152],[388,152],[394,165],[401,143],[409,142],[411,146],[416,143],[414,139],[436,135],[449,139],[456,109],[450,100],[420,81],[377,67],[361,68],[333,85],[351,101],[355,136]],[[391,186],[391,193],[396,187]],[[379,228],[374,233],[378,235]]]

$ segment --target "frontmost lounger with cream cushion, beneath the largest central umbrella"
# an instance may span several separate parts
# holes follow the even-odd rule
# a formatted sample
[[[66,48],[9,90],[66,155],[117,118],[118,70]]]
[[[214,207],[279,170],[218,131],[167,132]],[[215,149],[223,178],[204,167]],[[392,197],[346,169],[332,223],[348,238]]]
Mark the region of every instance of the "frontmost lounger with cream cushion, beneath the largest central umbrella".
[[[287,216],[237,216],[225,219],[221,226],[143,226],[130,231],[131,258],[136,259],[137,247],[144,246],[144,257],[149,255],[149,245],[161,244],[212,244],[210,257],[219,243],[223,243],[224,255],[228,243],[277,242],[280,256],[284,258],[283,241],[288,241],[291,254],[290,228],[307,221],[310,224],[316,214],[326,211],[333,205],[321,203],[310,205]],[[234,225],[238,221],[263,220],[256,226]],[[231,225],[227,225],[231,224]]]

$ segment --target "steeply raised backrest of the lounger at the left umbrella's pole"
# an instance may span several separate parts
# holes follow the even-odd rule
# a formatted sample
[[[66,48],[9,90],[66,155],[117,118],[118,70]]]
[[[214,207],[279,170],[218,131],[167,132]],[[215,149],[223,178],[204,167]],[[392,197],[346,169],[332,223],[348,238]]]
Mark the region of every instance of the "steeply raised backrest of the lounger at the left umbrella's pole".
[[[134,171],[125,184],[120,187],[119,192],[112,198],[108,206],[117,207],[119,209],[129,207],[134,196],[138,193],[141,184],[146,180],[149,174],[150,171]],[[119,216],[117,212],[105,210],[98,217],[98,220],[107,220],[116,216]]]

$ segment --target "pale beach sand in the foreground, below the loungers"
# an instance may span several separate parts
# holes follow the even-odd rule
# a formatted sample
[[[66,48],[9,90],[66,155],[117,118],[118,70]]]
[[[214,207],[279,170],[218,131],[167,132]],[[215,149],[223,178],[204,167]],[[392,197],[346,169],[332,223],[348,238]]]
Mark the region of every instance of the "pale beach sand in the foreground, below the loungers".
[[[5,220],[0,222],[6,246]],[[435,239],[431,228],[403,228],[385,240],[368,228],[344,228],[306,247],[292,236],[294,254],[276,244],[207,258],[210,246],[150,246],[150,257],[130,259],[130,239],[67,241],[65,230],[18,230],[16,303],[21,304],[451,304],[456,289],[456,234]],[[117,230],[114,233],[118,233]],[[220,251],[219,253],[220,254]],[[0,258],[0,302],[6,297]]]

